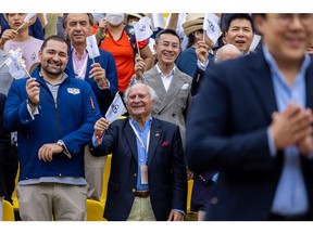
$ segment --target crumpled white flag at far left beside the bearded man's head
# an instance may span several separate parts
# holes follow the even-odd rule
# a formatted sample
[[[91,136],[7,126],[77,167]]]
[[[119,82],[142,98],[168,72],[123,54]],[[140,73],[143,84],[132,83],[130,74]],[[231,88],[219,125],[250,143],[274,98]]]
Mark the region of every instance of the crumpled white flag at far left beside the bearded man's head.
[[[15,79],[25,77],[26,65],[23,60],[23,52],[21,48],[17,48],[15,51],[10,50],[8,52],[9,57],[5,60],[5,65],[9,67],[9,73]]]

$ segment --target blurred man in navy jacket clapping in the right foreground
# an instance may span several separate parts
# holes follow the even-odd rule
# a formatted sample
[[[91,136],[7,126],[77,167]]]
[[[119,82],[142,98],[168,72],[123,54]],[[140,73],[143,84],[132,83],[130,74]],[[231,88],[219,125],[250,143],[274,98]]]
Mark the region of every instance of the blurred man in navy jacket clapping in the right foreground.
[[[220,171],[206,220],[312,220],[313,14],[254,21],[262,49],[206,70],[187,162]]]

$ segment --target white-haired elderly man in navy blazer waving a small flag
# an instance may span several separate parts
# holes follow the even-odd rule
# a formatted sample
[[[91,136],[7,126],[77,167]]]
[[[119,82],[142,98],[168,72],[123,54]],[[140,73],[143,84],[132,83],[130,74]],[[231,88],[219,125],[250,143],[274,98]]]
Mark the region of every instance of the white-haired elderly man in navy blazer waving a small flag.
[[[104,218],[181,221],[187,205],[185,154],[178,126],[151,116],[155,92],[136,83],[125,92],[129,117],[95,125],[91,154],[112,154]]]

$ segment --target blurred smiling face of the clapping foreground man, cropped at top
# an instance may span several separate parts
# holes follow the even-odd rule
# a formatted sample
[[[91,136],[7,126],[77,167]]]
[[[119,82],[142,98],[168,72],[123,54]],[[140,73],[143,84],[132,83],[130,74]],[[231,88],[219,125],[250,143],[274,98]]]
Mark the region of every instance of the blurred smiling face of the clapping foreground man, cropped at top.
[[[276,63],[303,60],[313,36],[313,14],[266,14],[255,17],[255,23]]]

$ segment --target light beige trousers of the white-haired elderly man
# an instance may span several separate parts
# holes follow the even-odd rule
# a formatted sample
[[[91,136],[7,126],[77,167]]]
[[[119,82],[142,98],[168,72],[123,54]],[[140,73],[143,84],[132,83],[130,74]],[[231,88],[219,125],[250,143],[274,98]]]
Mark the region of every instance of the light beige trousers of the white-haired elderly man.
[[[130,213],[126,221],[156,221],[152,210],[150,196],[147,198],[135,197]]]

